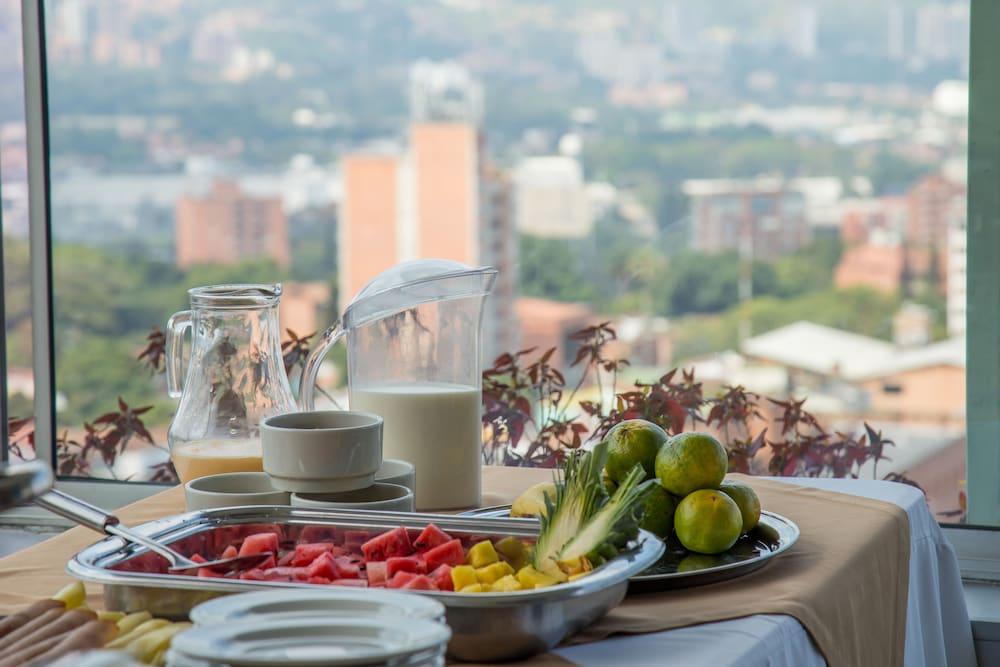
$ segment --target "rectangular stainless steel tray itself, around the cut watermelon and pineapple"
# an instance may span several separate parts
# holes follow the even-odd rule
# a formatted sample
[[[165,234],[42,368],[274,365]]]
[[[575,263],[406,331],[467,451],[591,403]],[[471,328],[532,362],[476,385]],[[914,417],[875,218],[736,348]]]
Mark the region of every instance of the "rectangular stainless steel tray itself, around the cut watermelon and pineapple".
[[[506,535],[530,538],[538,533],[538,523],[532,519],[278,506],[190,512],[134,530],[191,555],[218,553],[232,541],[261,530],[279,530],[291,543],[300,538],[317,541],[323,539],[324,531],[329,535],[333,529],[420,529],[430,522],[472,540]],[[663,543],[643,531],[630,550],[589,576],[559,586],[513,593],[420,593],[445,605],[452,629],[449,655],[468,661],[513,660],[548,650],[606,614],[625,597],[629,578],[649,568],[663,551]],[[67,571],[77,579],[103,585],[108,609],[145,609],[172,618],[186,616],[198,603],[227,593],[312,586],[168,575],[161,573],[164,565],[160,556],[110,537],[78,553]]]

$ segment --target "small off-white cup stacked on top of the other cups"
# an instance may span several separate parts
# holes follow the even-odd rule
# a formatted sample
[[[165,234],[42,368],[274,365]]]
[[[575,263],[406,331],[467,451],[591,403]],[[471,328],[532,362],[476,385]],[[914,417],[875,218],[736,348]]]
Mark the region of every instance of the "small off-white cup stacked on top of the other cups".
[[[283,491],[340,493],[371,486],[382,464],[382,418],[370,412],[290,412],[260,426],[264,472]]]

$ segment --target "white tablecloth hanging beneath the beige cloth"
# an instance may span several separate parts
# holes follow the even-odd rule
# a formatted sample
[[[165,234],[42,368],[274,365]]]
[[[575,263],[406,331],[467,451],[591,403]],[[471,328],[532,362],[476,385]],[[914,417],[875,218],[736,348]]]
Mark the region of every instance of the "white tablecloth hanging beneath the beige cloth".
[[[874,480],[785,480],[893,502],[910,519],[910,586],[906,667],[975,667],[972,626],[958,560],[923,495],[905,484]],[[773,566],[772,566],[773,567]],[[757,615],[647,635],[615,637],[556,651],[581,667],[813,667],[826,661],[805,628],[784,615]]]

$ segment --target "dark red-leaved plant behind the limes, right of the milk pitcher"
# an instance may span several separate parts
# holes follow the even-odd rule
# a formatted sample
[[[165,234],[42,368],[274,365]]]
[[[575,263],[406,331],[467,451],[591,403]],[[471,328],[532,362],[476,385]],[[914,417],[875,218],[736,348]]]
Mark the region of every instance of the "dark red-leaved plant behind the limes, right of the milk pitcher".
[[[571,368],[579,377],[569,392],[563,374],[552,365],[556,349],[537,357],[535,349],[502,354],[483,373],[483,460],[490,464],[552,467],[569,450],[599,439],[615,424],[642,418],[671,434],[703,429],[716,433],[735,472],[802,477],[857,477],[872,461],[889,460],[892,446],[867,423],[860,436],[826,430],[804,409],[804,400],[763,398],[741,386],[725,386],[706,398],[693,370],[671,370],[656,382],[637,382],[618,392],[624,359],[610,359],[605,349],[615,340],[608,322],[583,329],[571,340],[580,344]],[[576,401],[588,380],[597,400]],[[605,406],[606,385],[613,399]],[[768,428],[766,412],[776,414]],[[769,430],[776,437],[768,437]],[[905,475],[884,479],[916,484]]]

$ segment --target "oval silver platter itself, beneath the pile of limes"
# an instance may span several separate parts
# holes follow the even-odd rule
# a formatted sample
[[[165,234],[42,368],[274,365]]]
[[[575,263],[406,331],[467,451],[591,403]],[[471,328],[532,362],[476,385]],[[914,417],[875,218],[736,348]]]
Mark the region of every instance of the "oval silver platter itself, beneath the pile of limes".
[[[463,515],[505,518],[510,516],[510,505],[483,507],[464,512]],[[788,551],[798,539],[799,527],[794,521],[766,510],[760,513],[760,523],[749,535],[744,535],[732,549],[717,556],[690,553],[671,535],[664,541],[666,550],[660,559],[629,579],[629,592],[688,588],[742,577],[759,570],[775,556]]]

